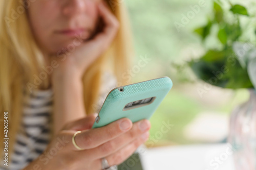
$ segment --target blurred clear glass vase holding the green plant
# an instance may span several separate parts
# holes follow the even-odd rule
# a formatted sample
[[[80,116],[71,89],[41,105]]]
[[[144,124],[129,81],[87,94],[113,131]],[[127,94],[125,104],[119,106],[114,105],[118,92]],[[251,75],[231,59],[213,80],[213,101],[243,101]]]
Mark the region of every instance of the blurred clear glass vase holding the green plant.
[[[256,90],[249,89],[249,93],[249,100],[230,116],[228,142],[236,170],[256,169]]]

